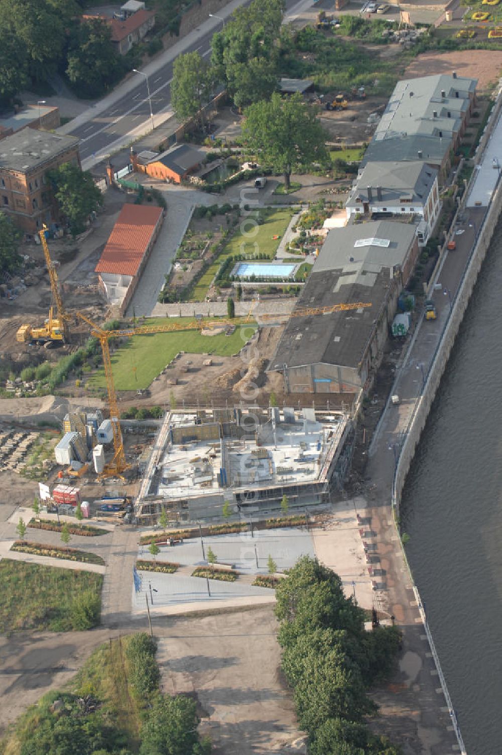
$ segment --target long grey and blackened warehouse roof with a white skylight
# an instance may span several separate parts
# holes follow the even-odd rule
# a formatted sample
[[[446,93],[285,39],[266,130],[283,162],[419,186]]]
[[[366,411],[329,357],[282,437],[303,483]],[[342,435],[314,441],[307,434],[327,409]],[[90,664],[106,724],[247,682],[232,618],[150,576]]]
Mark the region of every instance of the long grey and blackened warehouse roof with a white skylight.
[[[380,242],[354,246],[371,237]],[[371,307],[291,318],[269,370],[316,362],[358,368],[380,310],[390,295],[395,267],[402,265],[414,239],[414,226],[388,220],[328,233],[297,307],[358,301],[371,303]]]

